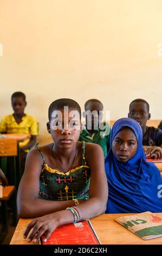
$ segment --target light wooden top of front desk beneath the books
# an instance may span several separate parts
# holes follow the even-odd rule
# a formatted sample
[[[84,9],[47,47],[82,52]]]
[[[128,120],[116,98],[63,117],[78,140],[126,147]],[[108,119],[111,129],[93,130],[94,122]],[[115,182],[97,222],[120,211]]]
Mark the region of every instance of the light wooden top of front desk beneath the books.
[[[90,220],[102,245],[162,245],[162,237],[144,241],[139,236],[114,221],[115,218],[125,215],[134,214],[102,214]],[[157,216],[162,217],[162,213],[157,214]],[[10,245],[34,244],[32,242],[28,243],[26,239],[23,239],[24,229],[31,220],[32,219],[19,220]]]

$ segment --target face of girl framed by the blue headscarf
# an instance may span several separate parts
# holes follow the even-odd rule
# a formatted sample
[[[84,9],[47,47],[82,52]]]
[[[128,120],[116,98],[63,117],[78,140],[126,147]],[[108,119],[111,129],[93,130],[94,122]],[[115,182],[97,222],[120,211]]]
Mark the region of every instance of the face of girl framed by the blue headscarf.
[[[120,162],[127,162],[137,151],[137,138],[129,128],[120,130],[113,139],[112,151]]]

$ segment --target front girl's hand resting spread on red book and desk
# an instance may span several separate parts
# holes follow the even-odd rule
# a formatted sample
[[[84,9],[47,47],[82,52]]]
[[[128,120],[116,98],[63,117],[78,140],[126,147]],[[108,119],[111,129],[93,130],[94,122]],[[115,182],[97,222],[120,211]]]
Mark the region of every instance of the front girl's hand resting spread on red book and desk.
[[[51,233],[60,225],[60,215],[58,213],[44,215],[31,221],[24,231],[24,239],[28,236],[28,242],[36,242],[44,235],[44,242],[47,242]]]

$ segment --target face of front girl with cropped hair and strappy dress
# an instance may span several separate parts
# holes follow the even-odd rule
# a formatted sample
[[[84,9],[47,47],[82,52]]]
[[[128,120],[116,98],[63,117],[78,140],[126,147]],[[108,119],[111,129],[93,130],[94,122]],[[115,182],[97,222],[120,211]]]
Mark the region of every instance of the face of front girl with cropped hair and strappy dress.
[[[79,139],[81,133],[81,121],[79,112],[75,109],[58,109],[51,115],[47,123],[47,130],[51,133],[53,141],[59,148],[72,148]]]

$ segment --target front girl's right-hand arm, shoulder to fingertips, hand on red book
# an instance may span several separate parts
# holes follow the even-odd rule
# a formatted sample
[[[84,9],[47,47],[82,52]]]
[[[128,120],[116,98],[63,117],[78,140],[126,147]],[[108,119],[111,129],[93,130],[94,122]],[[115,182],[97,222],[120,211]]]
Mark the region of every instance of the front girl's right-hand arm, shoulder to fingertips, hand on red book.
[[[103,151],[99,145],[88,143],[86,147],[87,164],[91,169],[89,200],[77,206],[81,211],[81,220],[87,220],[94,216],[100,215],[106,210],[108,197],[108,186],[104,167]],[[93,150],[92,150],[93,147]],[[91,152],[91,154],[89,154]],[[97,156],[97,157],[96,157]],[[73,223],[74,217],[69,210],[54,212],[40,218],[35,218],[30,222],[24,231],[24,238],[28,236],[28,241],[36,242],[42,234],[48,240],[51,233],[59,227],[59,225]],[[39,231],[37,233],[37,231]]]

